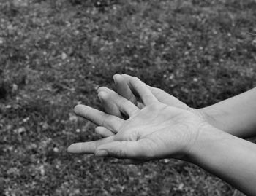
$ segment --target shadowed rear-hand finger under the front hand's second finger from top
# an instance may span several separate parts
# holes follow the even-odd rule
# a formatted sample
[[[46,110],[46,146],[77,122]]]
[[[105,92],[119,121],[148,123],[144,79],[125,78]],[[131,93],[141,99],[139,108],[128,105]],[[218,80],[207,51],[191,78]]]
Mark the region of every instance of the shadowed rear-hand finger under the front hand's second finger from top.
[[[105,91],[108,93],[108,88],[106,87],[99,87],[98,93],[101,91]],[[103,100],[99,94],[98,94],[99,100],[102,103],[102,106],[106,113],[111,114],[113,116],[123,118],[120,109],[118,109],[118,106],[116,106],[116,103],[110,98],[109,100]]]

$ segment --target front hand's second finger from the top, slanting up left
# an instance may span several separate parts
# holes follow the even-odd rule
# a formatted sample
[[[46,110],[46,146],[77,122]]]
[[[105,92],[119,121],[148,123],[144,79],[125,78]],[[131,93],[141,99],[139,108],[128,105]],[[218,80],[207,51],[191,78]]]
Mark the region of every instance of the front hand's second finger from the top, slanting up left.
[[[126,98],[121,97],[113,90],[110,90],[107,87],[105,87],[105,90],[106,91],[99,92],[99,98],[103,103],[105,103],[105,105],[110,105],[111,102],[112,104],[115,103],[118,109],[128,117],[131,117],[133,114],[135,114],[135,112],[140,110],[137,106],[135,106],[135,104],[128,101]]]

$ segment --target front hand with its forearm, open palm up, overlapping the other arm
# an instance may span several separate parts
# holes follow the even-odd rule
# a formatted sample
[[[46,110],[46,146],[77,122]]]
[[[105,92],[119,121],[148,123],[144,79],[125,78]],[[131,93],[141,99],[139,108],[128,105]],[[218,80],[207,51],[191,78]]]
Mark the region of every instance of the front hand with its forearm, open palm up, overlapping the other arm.
[[[106,108],[114,104],[119,117],[89,106],[75,107],[76,114],[99,125],[97,132],[106,137],[72,144],[68,152],[142,161],[178,158],[208,170],[246,195],[256,195],[255,144],[214,128],[200,112],[175,102],[176,98],[176,106],[160,102],[160,93],[154,95],[138,78],[129,78],[129,85],[140,98],[140,107],[107,88],[99,90],[102,104]]]

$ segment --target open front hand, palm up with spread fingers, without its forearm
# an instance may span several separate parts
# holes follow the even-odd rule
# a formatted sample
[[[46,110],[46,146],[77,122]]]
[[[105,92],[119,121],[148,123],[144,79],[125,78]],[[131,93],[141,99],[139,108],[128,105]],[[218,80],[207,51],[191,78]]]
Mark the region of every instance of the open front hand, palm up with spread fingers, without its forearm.
[[[118,95],[115,104],[128,115],[129,119],[125,120],[89,106],[76,106],[76,114],[100,125],[98,132],[111,130],[116,135],[72,144],[68,152],[135,160],[187,157],[201,132],[211,128],[211,125],[193,111],[160,103],[138,78],[132,77],[129,82],[140,95],[144,108],[140,110]],[[99,92],[99,96],[108,100],[108,93],[104,91]]]

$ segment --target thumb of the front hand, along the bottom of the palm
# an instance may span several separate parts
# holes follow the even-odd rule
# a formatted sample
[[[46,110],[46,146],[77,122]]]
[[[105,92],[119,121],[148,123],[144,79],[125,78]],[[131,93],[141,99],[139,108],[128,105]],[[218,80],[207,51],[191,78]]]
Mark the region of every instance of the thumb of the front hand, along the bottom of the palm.
[[[96,149],[97,157],[116,157],[119,159],[146,159],[150,154],[148,146],[142,145],[140,141],[112,141],[102,144]]]

